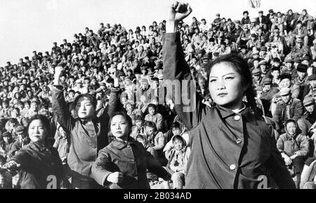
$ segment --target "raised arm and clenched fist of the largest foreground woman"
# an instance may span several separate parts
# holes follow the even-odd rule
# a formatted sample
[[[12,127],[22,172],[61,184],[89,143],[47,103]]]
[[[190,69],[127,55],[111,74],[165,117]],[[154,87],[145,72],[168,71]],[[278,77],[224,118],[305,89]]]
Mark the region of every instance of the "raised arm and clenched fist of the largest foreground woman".
[[[175,1],[169,8],[169,17],[166,24],[166,35],[164,37],[164,82],[171,92],[173,86],[176,91],[172,92],[172,101],[174,108],[180,119],[183,121],[188,130],[195,127],[202,118],[202,111],[199,108],[203,105],[198,94],[196,94],[195,83],[192,83],[190,66],[185,61],[185,55],[180,43],[180,34],[177,33],[178,22],[186,18],[192,9],[187,3]],[[186,85],[187,89],[182,90]],[[177,91],[179,90],[179,92]],[[180,92],[182,91],[182,92]],[[191,93],[191,94],[190,94]],[[190,94],[190,97],[189,95]]]

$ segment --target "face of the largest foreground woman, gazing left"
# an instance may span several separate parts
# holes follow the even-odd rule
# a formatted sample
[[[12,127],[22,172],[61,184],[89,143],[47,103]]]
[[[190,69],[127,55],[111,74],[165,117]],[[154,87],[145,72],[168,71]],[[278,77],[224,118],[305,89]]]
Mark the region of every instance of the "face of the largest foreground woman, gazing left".
[[[209,75],[209,92],[216,104],[239,108],[245,90],[242,77],[232,64],[221,62],[212,67]]]

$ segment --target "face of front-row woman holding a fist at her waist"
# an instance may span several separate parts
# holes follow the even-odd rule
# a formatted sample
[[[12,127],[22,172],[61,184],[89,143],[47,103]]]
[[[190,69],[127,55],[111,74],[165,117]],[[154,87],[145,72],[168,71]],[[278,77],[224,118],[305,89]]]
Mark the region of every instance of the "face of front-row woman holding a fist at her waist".
[[[129,137],[129,123],[124,116],[117,115],[111,120],[111,132],[114,137],[119,139],[127,139]]]

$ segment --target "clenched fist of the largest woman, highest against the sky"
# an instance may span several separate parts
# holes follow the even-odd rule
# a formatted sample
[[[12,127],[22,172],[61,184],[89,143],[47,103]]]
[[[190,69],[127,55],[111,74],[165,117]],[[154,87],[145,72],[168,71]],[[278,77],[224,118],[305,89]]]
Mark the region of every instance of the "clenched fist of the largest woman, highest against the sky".
[[[188,3],[174,1],[169,8],[168,20],[171,22],[179,22],[187,18],[190,13],[192,13],[192,8]]]

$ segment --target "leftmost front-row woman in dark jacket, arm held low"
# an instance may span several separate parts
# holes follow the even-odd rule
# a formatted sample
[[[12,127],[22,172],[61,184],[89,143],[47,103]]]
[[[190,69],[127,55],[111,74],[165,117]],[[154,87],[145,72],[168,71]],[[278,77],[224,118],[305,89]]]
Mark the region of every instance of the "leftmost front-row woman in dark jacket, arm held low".
[[[27,126],[31,142],[2,167],[20,170],[21,189],[58,189],[64,177],[58,152],[48,143],[50,122],[42,115],[31,118]]]

